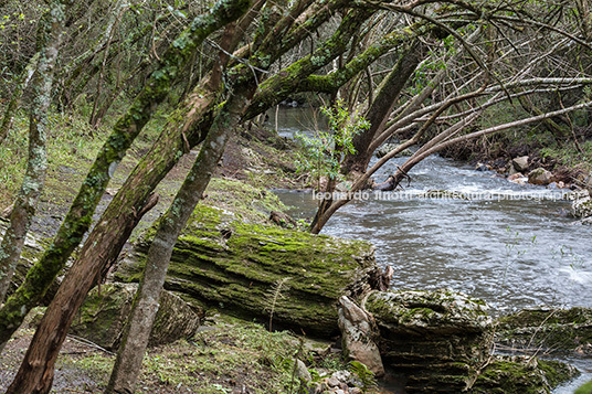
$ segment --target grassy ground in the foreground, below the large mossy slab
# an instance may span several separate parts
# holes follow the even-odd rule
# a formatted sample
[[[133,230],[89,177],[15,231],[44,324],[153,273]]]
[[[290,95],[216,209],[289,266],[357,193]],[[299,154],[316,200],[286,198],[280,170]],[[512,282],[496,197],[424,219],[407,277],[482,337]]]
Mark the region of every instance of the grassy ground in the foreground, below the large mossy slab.
[[[0,354],[0,391],[17,372],[34,331],[25,324]],[[323,356],[320,356],[323,355]],[[144,358],[137,393],[296,393],[294,360],[319,373],[347,369],[330,343],[268,332],[261,324],[213,316],[189,340],[150,348]],[[68,337],[55,368],[52,393],[102,393],[115,354]]]

